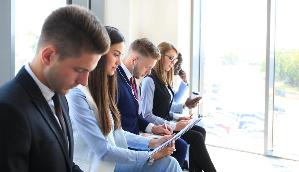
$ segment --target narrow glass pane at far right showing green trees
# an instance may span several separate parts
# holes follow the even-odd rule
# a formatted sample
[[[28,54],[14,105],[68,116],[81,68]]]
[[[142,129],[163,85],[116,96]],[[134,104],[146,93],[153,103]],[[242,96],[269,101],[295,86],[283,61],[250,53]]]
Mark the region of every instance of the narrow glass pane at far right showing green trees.
[[[276,0],[273,150],[299,155],[299,1]]]

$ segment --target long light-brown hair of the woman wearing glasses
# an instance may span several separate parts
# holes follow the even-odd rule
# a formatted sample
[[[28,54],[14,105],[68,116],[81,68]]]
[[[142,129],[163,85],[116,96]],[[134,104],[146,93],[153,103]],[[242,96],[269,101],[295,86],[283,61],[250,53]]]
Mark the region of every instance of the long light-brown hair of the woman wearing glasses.
[[[176,49],[176,46],[168,42],[162,42],[158,45],[158,48],[160,49],[161,59],[157,61],[154,67],[155,72],[161,83],[163,83],[165,86],[168,86],[169,84],[170,87],[173,88],[173,69],[170,69],[169,71],[164,69],[164,56],[167,51],[172,49],[175,50],[176,54],[178,55],[178,50]]]

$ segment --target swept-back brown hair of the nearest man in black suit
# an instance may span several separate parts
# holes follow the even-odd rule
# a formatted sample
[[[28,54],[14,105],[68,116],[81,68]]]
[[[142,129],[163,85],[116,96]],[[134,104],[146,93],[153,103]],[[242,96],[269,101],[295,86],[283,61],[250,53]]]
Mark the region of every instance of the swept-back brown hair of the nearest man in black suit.
[[[83,53],[106,54],[110,39],[94,13],[85,7],[67,5],[45,19],[36,52],[48,44],[56,48],[62,60],[78,58]]]

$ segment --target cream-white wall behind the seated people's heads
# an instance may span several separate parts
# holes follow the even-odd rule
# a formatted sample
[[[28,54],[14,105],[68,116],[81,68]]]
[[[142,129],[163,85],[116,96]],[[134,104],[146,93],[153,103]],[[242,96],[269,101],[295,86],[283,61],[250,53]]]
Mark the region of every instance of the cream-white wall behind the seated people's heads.
[[[147,37],[156,45],[172,43],[183,54],[183,69],[190,74],[190,0],[106,0],[104,23],[125,36],[125,53],[138,38]]]

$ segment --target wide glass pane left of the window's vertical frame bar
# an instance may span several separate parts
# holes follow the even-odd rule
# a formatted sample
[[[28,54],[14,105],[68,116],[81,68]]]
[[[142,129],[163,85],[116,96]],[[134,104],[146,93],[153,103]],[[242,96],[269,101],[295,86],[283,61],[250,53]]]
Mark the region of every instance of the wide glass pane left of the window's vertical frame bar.
[[[202,1],[207,144],[263,153],[267,1]]]

